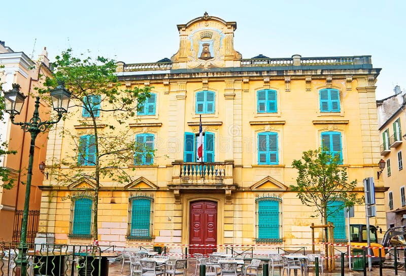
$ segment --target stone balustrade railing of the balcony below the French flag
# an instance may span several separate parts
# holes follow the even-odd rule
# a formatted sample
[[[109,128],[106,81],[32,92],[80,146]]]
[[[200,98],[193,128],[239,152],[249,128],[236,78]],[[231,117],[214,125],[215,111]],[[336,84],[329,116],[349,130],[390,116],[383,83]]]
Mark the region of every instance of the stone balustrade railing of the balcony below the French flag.
[[[230,185],[233,162],[173,162],[174,184]]]

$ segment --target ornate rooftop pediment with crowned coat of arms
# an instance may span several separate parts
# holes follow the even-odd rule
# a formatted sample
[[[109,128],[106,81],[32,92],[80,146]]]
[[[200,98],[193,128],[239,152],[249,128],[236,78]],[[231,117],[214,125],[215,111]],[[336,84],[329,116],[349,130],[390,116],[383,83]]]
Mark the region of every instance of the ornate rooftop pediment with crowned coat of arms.
[[[180,46],[171,58],[172,69],[240,65],[242,56],[233,46],[236,28],[235,22],[226,22],[208,13],[178,25]]]

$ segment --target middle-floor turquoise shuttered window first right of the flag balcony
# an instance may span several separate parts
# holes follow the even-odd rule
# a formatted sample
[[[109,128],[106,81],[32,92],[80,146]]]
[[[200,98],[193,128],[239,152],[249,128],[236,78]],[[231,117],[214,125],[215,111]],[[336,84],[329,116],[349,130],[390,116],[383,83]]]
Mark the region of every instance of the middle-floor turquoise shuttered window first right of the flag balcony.
[[[258,133],[258,165],[277,165],[278,157],[278,133]]]

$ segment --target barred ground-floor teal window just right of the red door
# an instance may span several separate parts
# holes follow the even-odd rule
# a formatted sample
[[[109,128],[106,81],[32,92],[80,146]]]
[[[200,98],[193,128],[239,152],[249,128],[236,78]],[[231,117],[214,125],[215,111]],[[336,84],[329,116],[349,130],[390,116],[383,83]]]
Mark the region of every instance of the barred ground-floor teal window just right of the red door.
[[[256,198],[257,241],[280,242],[281,239],[281,204],[282,199],[274,196]]]

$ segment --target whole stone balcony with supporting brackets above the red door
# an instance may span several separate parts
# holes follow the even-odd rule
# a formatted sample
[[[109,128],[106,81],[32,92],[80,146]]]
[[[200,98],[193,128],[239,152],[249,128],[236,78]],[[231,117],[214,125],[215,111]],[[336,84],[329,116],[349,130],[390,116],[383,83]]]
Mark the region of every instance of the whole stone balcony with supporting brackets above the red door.
[[[168,188],[174,191],[176,203],[180,203],[180,192],[186,190],[225,191],[226,202],[231,201],[231,190],[237,188],[237,185],[233,184],[233,161],[179,161],[172,164],[172,184],[168,184]]]

